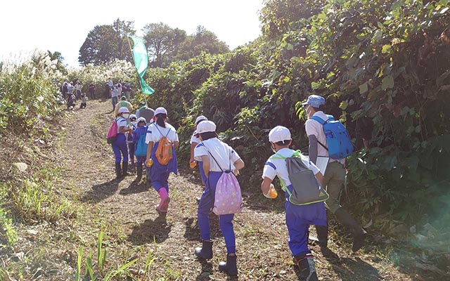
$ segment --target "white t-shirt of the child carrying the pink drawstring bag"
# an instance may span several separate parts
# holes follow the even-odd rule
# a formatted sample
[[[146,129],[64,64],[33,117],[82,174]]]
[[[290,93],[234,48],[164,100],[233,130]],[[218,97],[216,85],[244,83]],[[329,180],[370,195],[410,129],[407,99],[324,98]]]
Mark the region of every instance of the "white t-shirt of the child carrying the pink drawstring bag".
[[[210,171],[229,170],[230,157],[231,157],[231,171],[233,171],[234,169],[236,169],[233,163],[238,161],[238,159],[240,159],[238,153],[234,151],[233,148],[231,148],[231,146],[219,141],[218,138],[210,138],[209,140],[199,143],[195,147],[194,159],[196,161],[202,161],[203,155],[208,155],[208,157],[210,157]],[[214,156],[215,160],[212,158],[211,155]]]

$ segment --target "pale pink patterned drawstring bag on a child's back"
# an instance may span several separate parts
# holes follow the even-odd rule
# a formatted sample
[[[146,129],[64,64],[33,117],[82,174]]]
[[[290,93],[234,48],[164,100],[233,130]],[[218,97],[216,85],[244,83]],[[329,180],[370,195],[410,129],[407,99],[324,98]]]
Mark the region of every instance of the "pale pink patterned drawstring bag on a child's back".
[[[206,145],[205,145],[206,148]],[[243,200],[240,193],[240,185],[238,179],[231,171],[231,151],[230,151],[230,166],[229,169],[224,171],[219,165],[219,162],[212,156],[210,150],[207,152],[211,155],[212,159],[217,163],[217,166],[223,172],[217,181],[216,192],[214,193],[214,208],[212,211],[214,214],[227,215],[237,214],[242,211]],[[209,181],[209,178],[208,178]]]

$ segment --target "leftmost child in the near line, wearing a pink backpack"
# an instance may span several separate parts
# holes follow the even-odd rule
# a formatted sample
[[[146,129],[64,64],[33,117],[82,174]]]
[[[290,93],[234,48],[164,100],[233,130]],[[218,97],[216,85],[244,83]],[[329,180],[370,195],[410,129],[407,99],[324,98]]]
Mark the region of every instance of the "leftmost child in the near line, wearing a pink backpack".
[[[128,171],[128,149],[125,133],[131,131],[128,125],[129,110],[127,107],[120,107],[117,112],[115,122],[117,122],[117,137],[111,144],[115,155],[115,175],[116,178],[127,176]],[[122,160],[122,167],[120,161]]]

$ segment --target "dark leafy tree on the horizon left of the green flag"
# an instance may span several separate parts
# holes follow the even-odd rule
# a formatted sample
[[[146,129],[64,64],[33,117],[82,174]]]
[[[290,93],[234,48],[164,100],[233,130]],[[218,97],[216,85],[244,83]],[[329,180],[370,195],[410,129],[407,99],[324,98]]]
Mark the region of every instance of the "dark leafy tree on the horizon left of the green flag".
[[[129,60],[127,36],[134,34],[134,22],[117,19],[113,25],[96,25],[79,49],[78,61],[82,65],[102,65],[112,60]]]

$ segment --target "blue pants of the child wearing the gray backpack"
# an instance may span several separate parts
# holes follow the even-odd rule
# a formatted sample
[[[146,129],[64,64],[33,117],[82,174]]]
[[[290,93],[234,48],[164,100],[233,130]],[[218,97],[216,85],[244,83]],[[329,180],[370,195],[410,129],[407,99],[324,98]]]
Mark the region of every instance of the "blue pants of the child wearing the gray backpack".
[[[326,211],[323,202],[298,206],[288,200],[284,203],[286,226],[289,232],[289,249],[293,256],[308,249],[309,225],[326,226]]]

